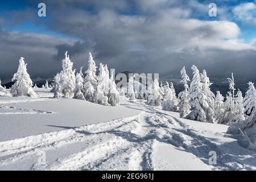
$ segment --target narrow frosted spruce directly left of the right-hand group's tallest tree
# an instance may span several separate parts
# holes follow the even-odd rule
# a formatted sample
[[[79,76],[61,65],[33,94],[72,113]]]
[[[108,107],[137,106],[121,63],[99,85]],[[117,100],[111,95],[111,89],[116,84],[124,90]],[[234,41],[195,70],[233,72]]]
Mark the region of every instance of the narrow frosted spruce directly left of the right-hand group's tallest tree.
[[[189,100],[188,100],[188,81],[189,77],[186,73],[185,67],[183,67],[180,71],[181,74],[181,81],[184,85],[184,90],[183,92],[180,92],[178,97],[180,99],[179,107],[180,107],[180,117],[184,118],[188,115],[189,113]]]

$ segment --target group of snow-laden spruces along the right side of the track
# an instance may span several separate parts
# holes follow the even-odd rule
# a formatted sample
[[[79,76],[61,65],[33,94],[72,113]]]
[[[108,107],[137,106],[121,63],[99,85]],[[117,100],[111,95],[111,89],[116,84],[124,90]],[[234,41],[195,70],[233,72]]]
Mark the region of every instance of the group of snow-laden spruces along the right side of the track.
[[[229,81],[229,92],[224,97],[219,91],[216,96],[210,90],[209,77],[203,70],[195,65],[192,66],[193,77],[190,81],[185,68],[181,69],[181,82],[184,90],[176,97],[172,83],[159,85],[158,80],[154,80],[147,89],[146,104],[152,106],[162,105],[163,110],[179,111],[180,117],[201,122],[221,123],[231,125],[230,132],[239,133],[240,130],[252,127],[256,123],[256,90],[254,84],[249,82],[249,88],[243,98],[242,92],[235,88],[233,73]]]

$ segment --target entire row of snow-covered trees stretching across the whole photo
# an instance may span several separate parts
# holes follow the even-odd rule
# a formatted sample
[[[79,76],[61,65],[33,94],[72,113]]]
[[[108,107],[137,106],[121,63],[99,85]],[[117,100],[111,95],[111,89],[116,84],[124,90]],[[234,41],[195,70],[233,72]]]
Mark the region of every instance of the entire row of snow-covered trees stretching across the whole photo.
[[[10,93],[12,96],[39,97],[32,89],[32,80],[27,73],[27,64],[20,57],[18,71],[14,74]],[[88,68],[85,76],[73,70],[73,63],[68,53],[62,61],[62,71],[54,78],[52,91],[55,98],[67,97],[86,100],[96,104],[115,106],[119,104],[119,96],[126,96],[129,100],[146,100],[147,105],[162,106],[163,110],[179,111],[180,117],[201,122],[221,123],[230,125],[230,132],[240,132],[252,127],[256,122],[256,90],[252,82],[248,83],[248,90],[243,98],[242,92],[235,88],[233,73],[229,81],[229,92],[226,97],[210,90],[207,72],[202,73],[195,65],[192,66],[193,77],[189,79],[185,68],[180,71],[184,89],[177,96],[172,82],[162,84],[154,79],[147,85],[146,93],[135,89],[138,84],[134,77],[129,78],[126,92],[124,88],[117,89],[113,73],[109,73],[108,66],[100,63],[98,75],[92,54],[89,53]],[[188,85],[190,82],[190,85]],[[45,88],[49,88],[48,81]],[[5,90],[4,88],[1,88]],[[224,101],[225,100],[225,101]]]

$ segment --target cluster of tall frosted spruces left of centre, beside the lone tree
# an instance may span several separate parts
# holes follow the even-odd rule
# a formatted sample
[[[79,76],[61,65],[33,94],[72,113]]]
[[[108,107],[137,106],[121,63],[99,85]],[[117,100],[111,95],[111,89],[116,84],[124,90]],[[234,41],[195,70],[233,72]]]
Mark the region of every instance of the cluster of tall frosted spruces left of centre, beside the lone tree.
[[[62,61],[62,71],[54,78],[54,97],[76,98],[89,102],[115,106],[119,104],[119,92],[115,85],[113,75],[110,77],[108,66],[100,63],[99,73],[96,75],[96,64],[92,54],[89,53],[88,69],[85,76],[73,70],[73,63],[67,52]]]

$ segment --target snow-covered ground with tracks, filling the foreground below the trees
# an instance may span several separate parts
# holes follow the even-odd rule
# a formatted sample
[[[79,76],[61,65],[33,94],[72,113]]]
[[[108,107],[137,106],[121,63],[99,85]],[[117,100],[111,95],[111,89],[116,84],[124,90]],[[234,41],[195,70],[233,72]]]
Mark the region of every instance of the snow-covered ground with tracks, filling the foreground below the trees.
[[[1,170],[256,169],[256,152],[226,134],[228,126],[142,101],[111,107],[36,92],[41,98],[0,97]]]

